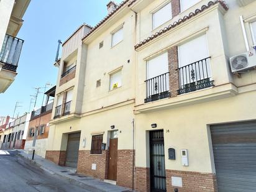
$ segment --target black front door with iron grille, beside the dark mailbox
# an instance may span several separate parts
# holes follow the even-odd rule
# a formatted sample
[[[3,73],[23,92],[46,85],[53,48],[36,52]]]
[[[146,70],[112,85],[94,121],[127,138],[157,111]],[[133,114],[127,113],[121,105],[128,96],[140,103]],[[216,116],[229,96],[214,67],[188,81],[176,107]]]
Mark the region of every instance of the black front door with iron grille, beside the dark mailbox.
[[[149,132],[150,135],[150,191],[166,191],[165,147],[163,130]]]

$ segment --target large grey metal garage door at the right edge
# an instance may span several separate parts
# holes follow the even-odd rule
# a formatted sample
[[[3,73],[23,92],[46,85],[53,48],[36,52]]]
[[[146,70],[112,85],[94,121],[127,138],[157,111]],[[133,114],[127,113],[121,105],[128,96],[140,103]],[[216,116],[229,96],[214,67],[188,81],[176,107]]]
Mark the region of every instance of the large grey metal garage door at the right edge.
[[[256,191],[256,122],[211,126],[219,192]]]

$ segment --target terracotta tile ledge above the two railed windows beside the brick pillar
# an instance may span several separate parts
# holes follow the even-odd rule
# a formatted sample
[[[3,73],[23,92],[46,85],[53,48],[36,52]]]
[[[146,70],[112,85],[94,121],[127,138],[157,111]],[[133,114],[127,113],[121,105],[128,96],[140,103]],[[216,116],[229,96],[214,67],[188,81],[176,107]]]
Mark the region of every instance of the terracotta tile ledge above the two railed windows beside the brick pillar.
[[[136,1],[136,0],[134,0],[134,1]],[[227,7],[227,4],[224,1],[209,1],[207,6],[206,5],[201,6],[201,9],[196,9],[194,12],[190,12],[190,14],[188,14],[188,16],[184,16],[183,19],[179,19],[178,21],[175,21],[173,24],[168,25],[168,27],[165,27],[164,29],[159,30],[158,32],[156,32],[155,34],[151,35],[147,39],[144,39],[141,42],[137,43],[137,45],[134,46],[135,50],[137,48],[141,47],[142,45],[144,45],[145,43],[150,42],[150,40],[153,40],[153,39],[157,38],[158,36],[160,36],[162,34],[165,34],[166,32],[168,32],[168,30],[173,29],[177,25],[180,25],[181,23],[187,21],[191,17],[196,16],[197,14],[203,12],[204,10],[208,9],[209,7],[211,7],[211,6],[213,6],[214,4],[217,4],[217,3],[221,4],[221,6],[226,11],[229,9]]]

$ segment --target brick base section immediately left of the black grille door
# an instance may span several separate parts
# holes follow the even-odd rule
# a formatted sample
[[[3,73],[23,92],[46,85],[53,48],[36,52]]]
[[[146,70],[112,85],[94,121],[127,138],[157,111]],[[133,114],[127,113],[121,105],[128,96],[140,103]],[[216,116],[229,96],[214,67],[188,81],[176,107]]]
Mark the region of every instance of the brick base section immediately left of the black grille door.
[[[135,167],[135,191],[150,191],[150,170],[148,167]]]

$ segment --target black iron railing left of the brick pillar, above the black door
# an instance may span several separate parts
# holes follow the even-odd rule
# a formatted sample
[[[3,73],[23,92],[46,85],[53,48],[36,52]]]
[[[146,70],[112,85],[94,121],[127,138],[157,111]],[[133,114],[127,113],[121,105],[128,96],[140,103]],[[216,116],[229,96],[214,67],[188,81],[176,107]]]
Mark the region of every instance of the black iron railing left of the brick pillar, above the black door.
[[[169,72],[145,81],[147,98],[145,103],[170,97]]]

